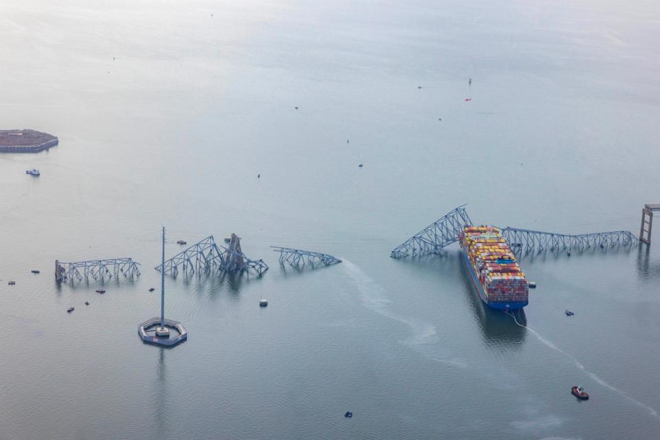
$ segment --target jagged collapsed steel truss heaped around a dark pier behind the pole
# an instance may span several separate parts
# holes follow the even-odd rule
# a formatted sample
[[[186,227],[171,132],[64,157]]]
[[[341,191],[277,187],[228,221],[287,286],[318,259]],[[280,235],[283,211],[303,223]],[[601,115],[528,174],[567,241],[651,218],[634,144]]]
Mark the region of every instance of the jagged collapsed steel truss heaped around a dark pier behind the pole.
[[[196,271],[219,273],[254,270],[261,275],[268,270],[268,265],[263,260],[250,260],[241,252],[240,239],[235,234],[232,234],[230,248],[217,245],[213,236],[210,235],[183,252],[179,252],[165,261],[165,274],[177,276],[179,267],[186,274]],[[162,270],[162,265],[157,265],[155,270]]]

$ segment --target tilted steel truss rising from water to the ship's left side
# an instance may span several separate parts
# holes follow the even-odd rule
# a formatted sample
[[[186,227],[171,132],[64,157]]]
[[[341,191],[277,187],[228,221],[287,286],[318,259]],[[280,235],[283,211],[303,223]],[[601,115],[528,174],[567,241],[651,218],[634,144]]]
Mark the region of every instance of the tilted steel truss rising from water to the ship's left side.
[[[400,259],[408,255],[437,254],[445,246],[458,241],[463,228],[472,225],[472,220],[465,212],[464,206],[454,208],[434,223],[417,232],[410,239],[398,245],[390,256],[394,259]]]

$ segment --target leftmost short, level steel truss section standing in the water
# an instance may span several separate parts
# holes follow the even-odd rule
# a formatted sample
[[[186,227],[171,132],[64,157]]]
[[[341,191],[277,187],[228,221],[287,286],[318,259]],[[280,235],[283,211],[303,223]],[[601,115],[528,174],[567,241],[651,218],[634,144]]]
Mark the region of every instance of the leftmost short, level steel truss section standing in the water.
[[[104,280],[113,276],[118,277],[123,274],[124,277],[140,276],[140,270],[133,259],[106,259],[106,260],[89,260],[89,261],[76,261],[74,263],[62,263],[55,261],[55,279],[57,281],[82,281],[83,278],[89,280]]]

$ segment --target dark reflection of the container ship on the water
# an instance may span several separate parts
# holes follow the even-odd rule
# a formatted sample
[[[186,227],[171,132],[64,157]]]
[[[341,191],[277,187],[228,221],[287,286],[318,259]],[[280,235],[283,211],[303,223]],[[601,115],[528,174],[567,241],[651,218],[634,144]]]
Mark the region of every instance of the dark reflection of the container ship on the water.
[[[456,256],[456,258],[461,258]],[[527,325],[527,318],[525,317],[525,310],[518,309],[514,312],[516,321],[512,316],[505,314],[503,311],[491,309],[487,307],[479,298],[478,292],[470,282],[470,274],[467,268],[461,264],[461,273],[463,274],[463,291],[467,296],[467,302],[470,303],[470,309],[474,314],[475,320],[481,327],[481,335],[488,347],[503,347],[509,349],[519,349],[525,342],[527,332],[520,325]]]

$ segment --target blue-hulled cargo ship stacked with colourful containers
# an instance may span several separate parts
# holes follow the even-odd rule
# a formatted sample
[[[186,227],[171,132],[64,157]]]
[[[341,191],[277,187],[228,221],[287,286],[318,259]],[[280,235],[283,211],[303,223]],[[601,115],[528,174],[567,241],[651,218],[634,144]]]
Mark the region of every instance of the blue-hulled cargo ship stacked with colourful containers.
[[[461,258],[481,300],[494,309],[520,309],[528,303],[527,277],[507,239],[494,226],[465,226],[459,235]]]

